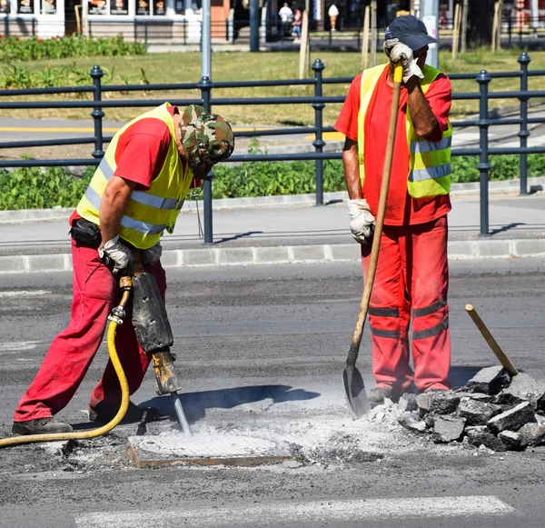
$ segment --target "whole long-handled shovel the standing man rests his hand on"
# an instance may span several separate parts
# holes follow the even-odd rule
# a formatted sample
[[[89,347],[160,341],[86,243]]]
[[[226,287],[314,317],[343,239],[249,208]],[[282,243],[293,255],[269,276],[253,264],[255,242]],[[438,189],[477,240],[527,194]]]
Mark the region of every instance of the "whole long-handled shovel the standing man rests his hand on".
[[[390,124],[388,127],[388,141],[386,144],[386,155],[384,157],[384,170],[382,172],[381,194],[379,197],[379,209],[375,220],[375,229],[372,238],[371,259],[367,276],[365,277],[365,287],[363,288],[362,304],[358,314],[358,321],[352,337],[352,344],[348,351],[346,366],[342,372],[342,381],[344,383],[344,392],[346,403],[348,403],[349,412],[354,420],[362,418],[363,414],[371,411],[371,405],[365,391],[362,374],[356,368],[356,360],[360,353],[360,344],[362,343],[363,325],[369,309],[371,299],[372,284],[379,260],[379,251],[381,249],[382,226],[384,225],[384,214],[386,213],[386,200],[388,198],[388,188],[390,187],[391,160],[393,157],[393,145],[395,143],[395,131],[397,127],[398,108],[400,105],[401,80],[403,78],[403,66],[401,63],[395,65],[393,71],[393,95],[391,96]]]

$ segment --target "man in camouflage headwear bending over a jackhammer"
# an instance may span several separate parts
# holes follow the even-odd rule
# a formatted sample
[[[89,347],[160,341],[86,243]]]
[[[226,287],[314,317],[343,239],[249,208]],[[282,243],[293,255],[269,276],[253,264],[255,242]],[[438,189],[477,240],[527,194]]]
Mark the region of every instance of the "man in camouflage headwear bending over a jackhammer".
[[[74,300],[72,320],[57,335],[34,381],[15,410],[17,434],[69,433],[54,414],[71,400],[103,341],[107,317],[119,303],[117,277],[142,250],[144,270],[163,296],[166,280],[160,238],[173,233],[183,200],[213,164],[233,154],[231,126],[220,115],[190,105],[181,112],[165,103],[139,115],[114,135],[101,164],[70,218]],[[130,322],[119,326],[115,345],[131,394],[150,363]],[[108,362],[89,404],[89,418],[109,422],[121,390]],[[129,405],[125,420],[139,421],[145,409]],[[157,415],[147,410],[147,419]]]

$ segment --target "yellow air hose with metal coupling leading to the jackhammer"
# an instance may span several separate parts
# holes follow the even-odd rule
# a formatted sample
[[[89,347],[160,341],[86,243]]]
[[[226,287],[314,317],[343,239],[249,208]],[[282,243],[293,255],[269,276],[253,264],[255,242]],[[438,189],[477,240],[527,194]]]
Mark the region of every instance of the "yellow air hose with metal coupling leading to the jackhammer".
[[[4,438],[0,440],[0,447],[9,447],[10,445],[21,445],[23,443],[40,443],[40,442],[57,442],[63,440],[86,440],[88,438],[95,438],[102,434],[112,431],[114,427],[119,424],[129,408],[129,384],[127,384],[127,378],[123,371],[123,366],[119,361],[119,356],[115,350],[115,330],[119,324],[123,324],[123,318],[125,315],[125,307],[129,302],[129,295],[133,288],[133,282],[131,277],[124,276],[120,280],[120,286],[124,290],[121,303],[112,310],[112,314],[108,317],[110,323],[108,324],[108,331],[106,334],[106,341],[108,344],[108,354],[110,355],[110,361],[114,365],[115,374],[119,379],[121,385],[121,406],[119,411],[115,414],[114,419],[92,431],[82,431],[81,433],[51,433],[51,434],[28,434],[25,436],[15,436],[14,438]]]

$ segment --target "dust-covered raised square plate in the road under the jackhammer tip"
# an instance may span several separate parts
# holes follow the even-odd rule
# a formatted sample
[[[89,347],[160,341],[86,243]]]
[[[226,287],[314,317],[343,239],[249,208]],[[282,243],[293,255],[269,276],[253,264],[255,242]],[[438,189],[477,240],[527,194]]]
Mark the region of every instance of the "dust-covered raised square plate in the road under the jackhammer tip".
[[[278,441],[241,433],[163,433],[130,436],[128,453],[136,467],[187,465],[262,465],[295,457]]]

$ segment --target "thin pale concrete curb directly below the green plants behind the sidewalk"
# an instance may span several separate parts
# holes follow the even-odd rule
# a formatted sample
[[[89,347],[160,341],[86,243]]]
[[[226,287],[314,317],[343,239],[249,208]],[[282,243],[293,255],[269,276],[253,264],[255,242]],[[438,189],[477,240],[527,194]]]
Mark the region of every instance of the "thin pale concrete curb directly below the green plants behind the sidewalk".
[[[530,191],[542,191],[545,189],[545,176],[528,178]],[[520,179],[505,180],[503,182],[490,182],[489,194],[517,193],[520,189]],[[479,194],[480,184],[452,184],[451,195],[463,196]],[[342,202],[348,199],[346,191],[336,193],[324,193],[325,204]],[[289,194],[279,196],[260,196],[256,198],[226,198],[213,200],[213,211],[225,209],[243,209],[249,207],[277,207],[287,205],[312,205],[316,203],[316,194]],[[203,210],[203,202],[199,201],[199,207]],[[20,209],[17,211],[0,211],[0,224],[24,224],[37,221],[66,220],[73,213],[73,207],[54,209]],[[196,206],[194,201],[187,200],[183,204],[182,214],[194,213]]]

